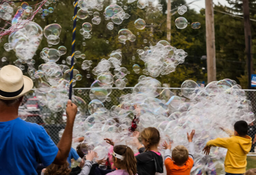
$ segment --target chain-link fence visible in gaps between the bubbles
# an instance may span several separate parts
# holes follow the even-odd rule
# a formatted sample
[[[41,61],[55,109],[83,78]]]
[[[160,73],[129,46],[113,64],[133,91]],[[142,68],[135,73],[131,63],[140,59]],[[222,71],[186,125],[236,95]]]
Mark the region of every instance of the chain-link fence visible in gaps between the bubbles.
[[[166,89],[166,88],[163,88],[163,89]],[[174,93],[174,95],[182,96],[180,88],[168,88],[168,89],[170,89]],[[251,101],[253,112],[256,113],[256,90],[244,90],[244,91],[247,99]],[[90,88],[74,88],[74,95],[79,96],[85,101],[86,105],[81,107],[83,109],[86,109],[85,111],[87,112],[86,113],[87,115],[90,115],[87,110],[87,106],[91,101],[89,97],[89,92],[90,92]],[[125,88],[123,90],[113,88],[111,94],[109,95],[109,97],[111,98],[111,101],[103,102],[105,108],[110,109],[114,105],[115,106],[119,105],[119,97],[122,94],[129,94],[129,93],[132,93],[132,88]],[[61,129],[64,129],[66,125],[65,111],[52,113],[46,106],[40,106],[40,101],[38,101],[37,98],[35,97],[33,90],[26,95],[26,97],[24,98],[24,103],[20,108],[29,112],[29,115],[26,121],[42,125],[45,128],[45,130],[48,132],[49,136],[51,136],[55,144],[59,142],[58,133]],[[254,139],[254,137],[256,136],[256,122],[254,122],[254,124],[250,124],[248,134]],[[253,145],[253,148],[255,148],[255,146],[256,146],[256,143]],[[253,148],[251,152],[254,152]]]

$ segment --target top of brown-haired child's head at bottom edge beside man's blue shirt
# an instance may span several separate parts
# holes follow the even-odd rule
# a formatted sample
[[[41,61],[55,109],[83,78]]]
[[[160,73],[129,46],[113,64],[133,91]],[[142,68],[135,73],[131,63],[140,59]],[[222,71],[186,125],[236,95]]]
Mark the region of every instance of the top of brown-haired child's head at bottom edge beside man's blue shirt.
[[[69,163],[66,161],[63,165],[56,165],[56,164],[51,164],[46,167],[46,170],[44,172],[45,175],[69,175],[71,170],[68,168]]]

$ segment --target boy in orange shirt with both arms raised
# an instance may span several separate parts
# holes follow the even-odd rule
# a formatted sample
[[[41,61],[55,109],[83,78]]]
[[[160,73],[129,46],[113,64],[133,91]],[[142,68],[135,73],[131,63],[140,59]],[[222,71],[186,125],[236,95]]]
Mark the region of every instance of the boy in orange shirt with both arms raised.
[[[194,164],[193,154],[195,153],[194,143],[192,142],[195,134],[195,130],[192,130],[190,134],[187,133],[188,150],[183,145],[178,145],[172,150],[172,156],[170,156],[171,142],[169,145],[163,144],[165,150],[165,168],[167,175],[190,175],[190,171]]]

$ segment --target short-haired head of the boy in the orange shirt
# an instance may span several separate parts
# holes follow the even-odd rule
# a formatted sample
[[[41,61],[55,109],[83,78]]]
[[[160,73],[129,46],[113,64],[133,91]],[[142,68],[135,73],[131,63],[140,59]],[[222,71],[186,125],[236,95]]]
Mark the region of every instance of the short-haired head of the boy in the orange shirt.
[[[183,165],[188,159],[188,150],[183,145],[178,145],[172,150],[172,160],[177,165]]]

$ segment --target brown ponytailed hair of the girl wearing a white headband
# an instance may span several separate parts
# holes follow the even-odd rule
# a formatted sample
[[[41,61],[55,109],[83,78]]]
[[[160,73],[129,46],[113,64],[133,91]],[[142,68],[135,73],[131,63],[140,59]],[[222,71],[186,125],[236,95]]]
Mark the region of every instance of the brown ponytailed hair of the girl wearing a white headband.
[[[124,160],[117,159],[117,164],[125,166],[126,171],[129,175],[136,175],[137,173],[137,161],[134,157],[134,153],[129,146],[126,145],[116,145],[114,146],[114,152],[121,156],[124,156]],[[113,156],[114,158],[114,156]]]

